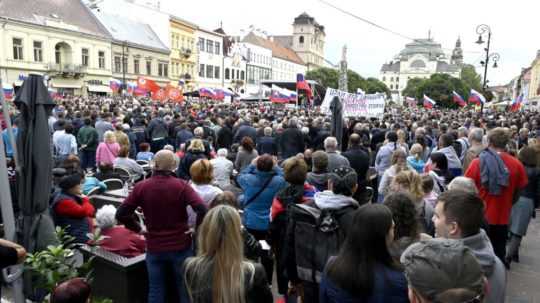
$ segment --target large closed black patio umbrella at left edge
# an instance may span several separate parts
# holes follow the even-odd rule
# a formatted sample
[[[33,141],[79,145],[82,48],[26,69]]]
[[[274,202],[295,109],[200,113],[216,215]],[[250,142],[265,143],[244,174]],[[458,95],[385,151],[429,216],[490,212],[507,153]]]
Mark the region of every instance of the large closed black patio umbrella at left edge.
[[[14,103],[21,112],[17,151],[23,243],[35,252],[57,242],[48,211],[53,165],[48,118],[55,103],[39,75],[24,81]]]

